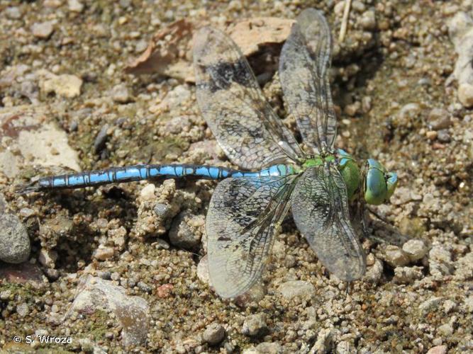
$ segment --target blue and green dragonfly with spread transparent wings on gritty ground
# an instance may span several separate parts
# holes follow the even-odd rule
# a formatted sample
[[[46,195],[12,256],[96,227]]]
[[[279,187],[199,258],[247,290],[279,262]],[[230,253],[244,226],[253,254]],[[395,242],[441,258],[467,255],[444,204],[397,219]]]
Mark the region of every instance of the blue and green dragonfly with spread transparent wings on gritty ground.
[[[140,164],[46,176],[22,193],[55,188],[194,176],[220,180],[206,215],[208,270],[218,295],[237,297],[260,280],[272,244],[291,209],[296,227],[318,260],[340,280],[362,278],[365,252],[352,226],[350,205],[379,205],[397,176],[368,159],[358,166],[335,149],[337,119],[328,70],[330,28],[308,8],[292,25],[279,59],[284,102],[301,142],[277,116],[250,64],[228,35],[211,27],[194,37],[196,98],[228,159],[239,169],[192,164]]]

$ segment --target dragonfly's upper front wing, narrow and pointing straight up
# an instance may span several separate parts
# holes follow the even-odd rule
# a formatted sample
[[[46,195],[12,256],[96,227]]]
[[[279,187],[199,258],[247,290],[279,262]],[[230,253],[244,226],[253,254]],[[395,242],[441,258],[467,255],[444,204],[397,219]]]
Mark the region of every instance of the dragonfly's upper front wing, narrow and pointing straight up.
[[[332,38],[320,11],[302,11],[292,25],[279,59],[284,100],[295,116],[304,142],[319,152],[332,149],[337,135],[328,69]]]

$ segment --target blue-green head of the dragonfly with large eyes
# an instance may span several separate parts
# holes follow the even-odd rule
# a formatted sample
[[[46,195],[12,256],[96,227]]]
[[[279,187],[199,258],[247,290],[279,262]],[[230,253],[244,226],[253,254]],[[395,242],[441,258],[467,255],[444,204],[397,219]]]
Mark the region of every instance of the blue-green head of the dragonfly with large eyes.
[[[397,175],[388,172],[382,164],[368,159],[365,166],[365,201],[368,204],[380,205],[387,202],[396,190]]]

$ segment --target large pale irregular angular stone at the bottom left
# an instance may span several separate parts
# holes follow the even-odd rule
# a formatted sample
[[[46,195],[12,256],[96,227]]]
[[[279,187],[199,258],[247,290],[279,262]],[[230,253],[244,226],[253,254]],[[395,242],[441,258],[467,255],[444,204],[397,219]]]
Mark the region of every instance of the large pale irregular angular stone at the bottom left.
[[[72,311],[90,316],[95,311],[113,313],[122,327],[123,346],[144,346],[148,337],[150,308],[145,299],[126,295],[123,287],[91,275],[79,279]]]

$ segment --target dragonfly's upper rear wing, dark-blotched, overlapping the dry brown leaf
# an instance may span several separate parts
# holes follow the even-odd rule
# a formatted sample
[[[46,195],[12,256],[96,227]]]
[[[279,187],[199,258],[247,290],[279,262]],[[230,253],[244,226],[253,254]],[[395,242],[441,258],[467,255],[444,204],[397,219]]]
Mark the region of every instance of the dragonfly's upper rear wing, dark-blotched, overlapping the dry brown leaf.
[[[243,169],[261,169],[301,156],[250,64],[227,35],[208,27],[199,30],[194,69],[199,108],[230,161]]]

